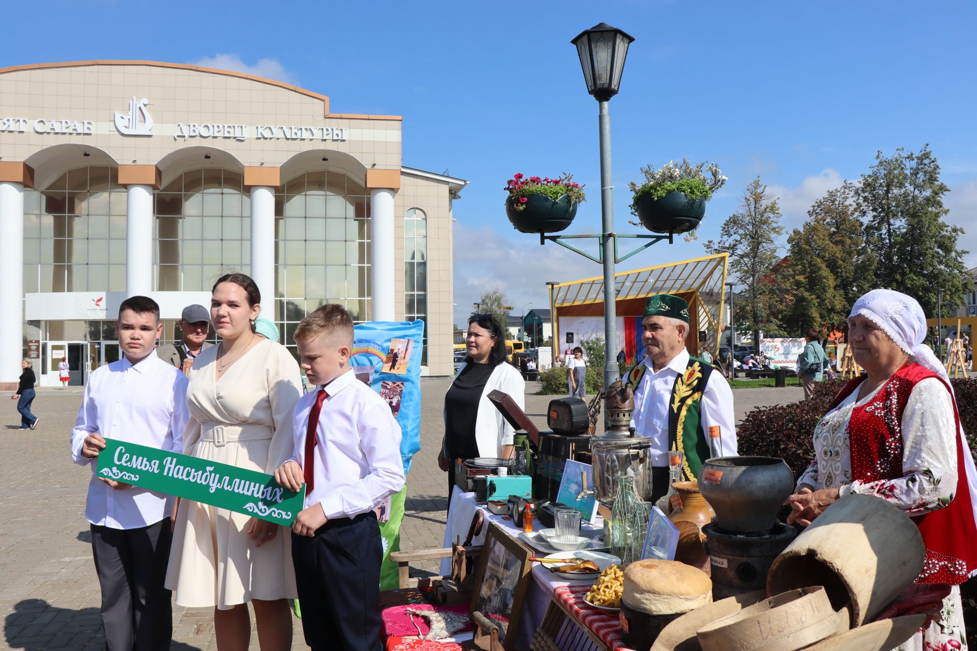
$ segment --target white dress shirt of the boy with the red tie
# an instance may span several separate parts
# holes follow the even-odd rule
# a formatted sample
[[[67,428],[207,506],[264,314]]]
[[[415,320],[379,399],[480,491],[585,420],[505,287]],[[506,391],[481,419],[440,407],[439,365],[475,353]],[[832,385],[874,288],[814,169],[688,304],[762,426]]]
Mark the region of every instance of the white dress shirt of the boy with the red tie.
[[[309,391],[295,405],[295,454],[290,461],[303,470],[310,463],[305,459],[305,439],[319,388],[325,388],[329,397],[319,413],[311,461],[314,485],[306,494],[305,507],[319,504],[329,519],[376,509],[404,488],[401,426],[386,400],[349,369],[325,387]]]

